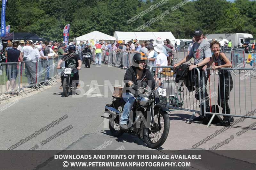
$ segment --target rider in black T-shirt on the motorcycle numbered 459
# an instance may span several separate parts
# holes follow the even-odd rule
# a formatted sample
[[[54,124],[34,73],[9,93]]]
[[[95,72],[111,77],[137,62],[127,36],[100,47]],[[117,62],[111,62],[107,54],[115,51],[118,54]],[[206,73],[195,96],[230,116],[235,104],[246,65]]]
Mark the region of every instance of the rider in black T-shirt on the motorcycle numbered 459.
[[[76,67],[77,70],[74,71],[74,77],[73,77],[73,80],[79,80],[79,73],[78,73],[78,70],[81,69],[81,65],[82,65],[82,62],[80,60],[80,57],[78,54],[75,54],[73,57],[67,57],[68,55],[72,55],[71,53],[75,53],[76,52],[76,46],[74,45],[70,45],[68,46],[68,54],[64,55],[62,59],[60,59],[60,61],[58,62],[58,65],[57,65],[57,69],[60,69],[60,64],[65,61],[65,67],[70,67],[70,68],[73,68],[73,66]],[[66,58],[67,59],[66,59]],[[60,86],[60,89],[63,89],[63,76],[61,76],[61,86]],[[76,87],[79,88],[79,84],[76,83]],[[62,87],[62,88],[61,88]]]

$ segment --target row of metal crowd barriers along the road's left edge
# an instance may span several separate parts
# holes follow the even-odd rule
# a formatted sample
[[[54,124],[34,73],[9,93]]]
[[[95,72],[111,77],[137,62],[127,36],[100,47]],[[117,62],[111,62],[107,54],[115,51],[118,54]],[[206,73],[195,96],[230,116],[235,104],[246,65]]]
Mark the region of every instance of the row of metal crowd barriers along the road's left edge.
[[[0,94],[3,95],[12,92],[18,92],[20,94],[20,91],[24,88],[42,86],[42,83],[49,82],[47,80],[50,78],[57,82],[54,76],[60,73],[60,69],[57,69],[59,58],[51,58],[48,61],[37,59],[0,63]],[[51,82],[49,83],[52,85]],[[23,90],[23,92],[25,91]],[[7,98],[5,97],[5,99]]]

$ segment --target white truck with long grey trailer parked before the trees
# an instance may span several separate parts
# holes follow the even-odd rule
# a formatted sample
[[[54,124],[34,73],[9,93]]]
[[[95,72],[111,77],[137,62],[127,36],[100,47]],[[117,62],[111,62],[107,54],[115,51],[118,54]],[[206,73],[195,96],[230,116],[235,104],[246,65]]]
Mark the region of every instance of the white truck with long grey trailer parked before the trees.
[[[253,38],[252,34],[249,33],[220,33],[220,34],[209,34],[206,36],[207,39],[227,39],[231,40],[232,48],[243,47],[248,45],[250,40]]]

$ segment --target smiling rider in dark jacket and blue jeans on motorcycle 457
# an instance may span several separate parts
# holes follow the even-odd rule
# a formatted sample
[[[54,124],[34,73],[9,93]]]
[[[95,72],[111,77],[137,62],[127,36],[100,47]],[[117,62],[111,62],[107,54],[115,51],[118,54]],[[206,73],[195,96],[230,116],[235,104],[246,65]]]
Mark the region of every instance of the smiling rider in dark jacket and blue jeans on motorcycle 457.
[[[124,75],[124,88],[122,91],[123,100],[126,102],[124,105],[123,113],[120,117],[120,127],[123,129],[128,129],[128,117],[131,112],[131,108],[134,104],[135,97],[138,96],[136,90],[138,87],[142,86],[142,82],[146,82],[151,89],[158,87],[152,74],[147,68],[148,58],[147,56],[140,52],[133,56],[132,66],[126,70]]]

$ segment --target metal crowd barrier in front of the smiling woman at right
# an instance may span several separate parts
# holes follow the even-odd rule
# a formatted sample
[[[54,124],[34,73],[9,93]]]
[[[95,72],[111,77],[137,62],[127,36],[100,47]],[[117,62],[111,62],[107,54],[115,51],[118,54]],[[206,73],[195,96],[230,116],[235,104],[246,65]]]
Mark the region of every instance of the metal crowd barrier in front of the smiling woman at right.
[[[211,68],[207,70],[211,70]],[[222,68],[218,70],[219,75],[210,76],[209,82],[212,82],[212,85],[207,87],[207,89],[214,94],[211,95],[210,106],[219,105],[220,112],[222,110],[222,113],[206,112],[204,109],[205,114],[212,115],[207,127],[210,126],[215,115],[256,119],[256,115],[246,115],[248,111],[252,111],[255,108],[253,101],[256,100],[256,81],[252,79],[252,75],[255,74],[256,70],[250,68]],[[232,70],[238,71],[238,74],[229,74],[228,72]],[[225,73],[220,74],[220,71],[225,71]],[[226,85],[223,83],[225,79],[227,79]],[[230,114],[227,113],[229,112],[228,108],[230,109]]]

